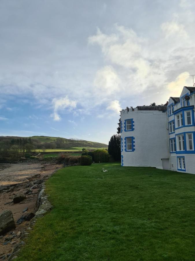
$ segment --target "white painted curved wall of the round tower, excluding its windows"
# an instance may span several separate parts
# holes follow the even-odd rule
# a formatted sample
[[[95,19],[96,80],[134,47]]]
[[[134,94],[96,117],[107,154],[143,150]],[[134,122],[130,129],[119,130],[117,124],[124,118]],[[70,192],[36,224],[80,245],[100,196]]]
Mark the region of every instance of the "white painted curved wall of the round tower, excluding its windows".
[[[162,158],[169,158],[167,113],[156,110],[121,111],[123,166],[146,166],[162,169]],[[133,118],[134,131],[124,131],[125,119]],[[135,151],[125,152],[125,137],[135,137]]]

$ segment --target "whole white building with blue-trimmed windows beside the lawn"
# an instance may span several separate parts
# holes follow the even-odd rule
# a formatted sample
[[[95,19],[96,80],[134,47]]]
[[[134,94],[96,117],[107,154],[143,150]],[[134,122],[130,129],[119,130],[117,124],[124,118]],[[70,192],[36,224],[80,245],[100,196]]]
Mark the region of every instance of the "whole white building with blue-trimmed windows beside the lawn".
[[[125,109],[121,118],[121,165],[195,174],[195,87],[184,87],[166,106]]]

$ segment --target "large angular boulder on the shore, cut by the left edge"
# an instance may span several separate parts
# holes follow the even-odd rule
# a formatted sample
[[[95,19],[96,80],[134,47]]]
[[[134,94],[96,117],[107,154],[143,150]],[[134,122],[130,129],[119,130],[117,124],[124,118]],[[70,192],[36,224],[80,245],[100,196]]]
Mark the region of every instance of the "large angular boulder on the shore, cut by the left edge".
[[[12,211],[5,210],[0,214],[0,235],[15,229],[16,225],[13,219]]]

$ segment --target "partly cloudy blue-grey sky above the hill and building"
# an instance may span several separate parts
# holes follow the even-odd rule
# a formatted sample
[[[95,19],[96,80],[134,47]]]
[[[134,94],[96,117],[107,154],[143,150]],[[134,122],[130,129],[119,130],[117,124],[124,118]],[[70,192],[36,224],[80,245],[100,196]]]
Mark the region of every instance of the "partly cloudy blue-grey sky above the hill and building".
[[[192,86],[194,0],[0,0],[0,135],[108,144]]]

